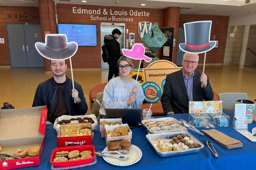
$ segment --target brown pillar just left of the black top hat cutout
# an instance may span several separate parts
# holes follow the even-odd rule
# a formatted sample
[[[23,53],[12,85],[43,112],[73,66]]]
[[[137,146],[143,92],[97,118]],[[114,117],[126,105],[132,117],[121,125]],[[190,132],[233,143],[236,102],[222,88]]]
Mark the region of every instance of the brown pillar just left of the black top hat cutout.
[[[170,6],[166,8],[165,27],[174,27],[173,38],[176,39],[175,47],[172,48],[172,62],[176,63],[177,58],[177,42],[179,33],[180,7]]]

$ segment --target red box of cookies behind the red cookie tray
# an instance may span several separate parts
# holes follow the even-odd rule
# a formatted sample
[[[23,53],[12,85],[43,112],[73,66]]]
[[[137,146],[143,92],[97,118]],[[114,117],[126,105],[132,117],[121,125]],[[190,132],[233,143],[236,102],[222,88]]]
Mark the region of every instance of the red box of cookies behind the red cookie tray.
[[[93,135],[61,137],[62,133],[68,134],[77,129],[81,130],[81,127],[84,125],[89,125],[90,130],[92,132],[92,124],[91,123],[72,123],[72,124],[61,125],[60,130],[58,131],[58,135],[57,135],[57,146],[58,147],[66,147],[66,146],[73,146],[73,145],[93,144]],[[93,132],[92,132],[92,134],[93,134]]]

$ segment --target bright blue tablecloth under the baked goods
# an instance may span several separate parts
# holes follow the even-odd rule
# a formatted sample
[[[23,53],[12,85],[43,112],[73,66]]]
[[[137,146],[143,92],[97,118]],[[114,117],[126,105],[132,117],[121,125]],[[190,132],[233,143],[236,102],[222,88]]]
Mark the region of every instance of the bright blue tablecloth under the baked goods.
[[[168,170],[168,169],[179,169],[185,168],[189,170],[248,170],[256,169],[256,165],[253,163],[256,160],[256,142],[251,142],[249,139],[242,136],[239,132],[232,128],[232,116],[233,111],[224,112],[230,116],[229,127],[217,127],[216,130],[225,133],[226,135],[238,139],[243,143],[243,147],[227,150],[222,147],[220,144],[215,142],[209,136],[201,136],[198,133],[195,133],[192,130],[188,130],[193,136],[195,136],[200,142],[202,142],[205,147],[200,150],[199,153],[192,153],[188,155],[181,155],[175,157],[165,157],[161,158],[157,156],[157,153],[149,144],[145,135],[147,130],[144,127],[139,127],[132,130],[132,139],[131,143],[136,145],[142,150],[143,156],[135,164],[130,166],[122,167],[122,170],[126,169],[146,169],[146,170]],[[189,114],[175,114],[172,115],[177,120],[184,119],[188,121]],[[252,128],[256,127],[256,122],[253,122],[248,125],[248,131],[251,132]],[[26,170],[47,170],[51,169],[51,163],[49,162],[52,150],[57,147],[56,131],[53,129],[53,125],[47,125],[47,130],[45,134],[45,148],[41,163],[36,167],[24,168]],[[199,130],[208,130],[206,128],[198,128]],[[214,155],[209,151],[205,143],[205,138],[208,138],[213,146],[215,147],[216,152],[218,153],[219,158],[215,159]],[[93,145],[95,146],[96,151],[102,151],[105,145],[105,139],[100,137],[100,133],[96,132],[93,136]],[[76,170],[82,169],[91,169],[91,170],[117,170],[120,167],[109,164],[102,157],[97,156],[96,164],[93,164],[89,167],[81,167]]]

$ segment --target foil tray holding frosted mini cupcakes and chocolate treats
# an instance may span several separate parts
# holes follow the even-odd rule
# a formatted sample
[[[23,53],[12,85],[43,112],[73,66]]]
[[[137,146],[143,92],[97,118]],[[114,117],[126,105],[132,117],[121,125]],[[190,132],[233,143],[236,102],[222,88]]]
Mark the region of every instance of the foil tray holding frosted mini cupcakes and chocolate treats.
[[[172,137],[178,136],[180,134],[186,134],[186,136],[188,136],[192,141],[194,141],[200,147],[188,149],[188,150],[163,152],[162,149],[160,149],[160,147],[157,145],[157,139],[159,139],[159,138],[162,138],[163,140],[169,142],[169,140],[172,139]],[[198,153],[204,147],[204,144],[202,144],[200,141],[198,141],[198,139],[196,139],[194,136],[192,136],[186,130],[177,131],[177,132],[169,132],[169,133],[148,134],[148,135],[146,135],[146,138],[148,139],[148,142],[151,144],[151,146],[156,151],[157,155],[160,157],[169,157],[169,156],[185,155],[185,154],[190,154],[190,153]]]

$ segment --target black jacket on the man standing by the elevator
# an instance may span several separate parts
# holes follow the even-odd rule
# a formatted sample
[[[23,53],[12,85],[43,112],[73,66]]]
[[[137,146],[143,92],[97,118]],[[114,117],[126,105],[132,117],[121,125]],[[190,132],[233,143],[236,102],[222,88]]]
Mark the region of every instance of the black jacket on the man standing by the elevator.
[[[119,42],[113,35],[105,35],[104,43],[108,43],[108,64],[117,64],[118,59],[122,56]]]

